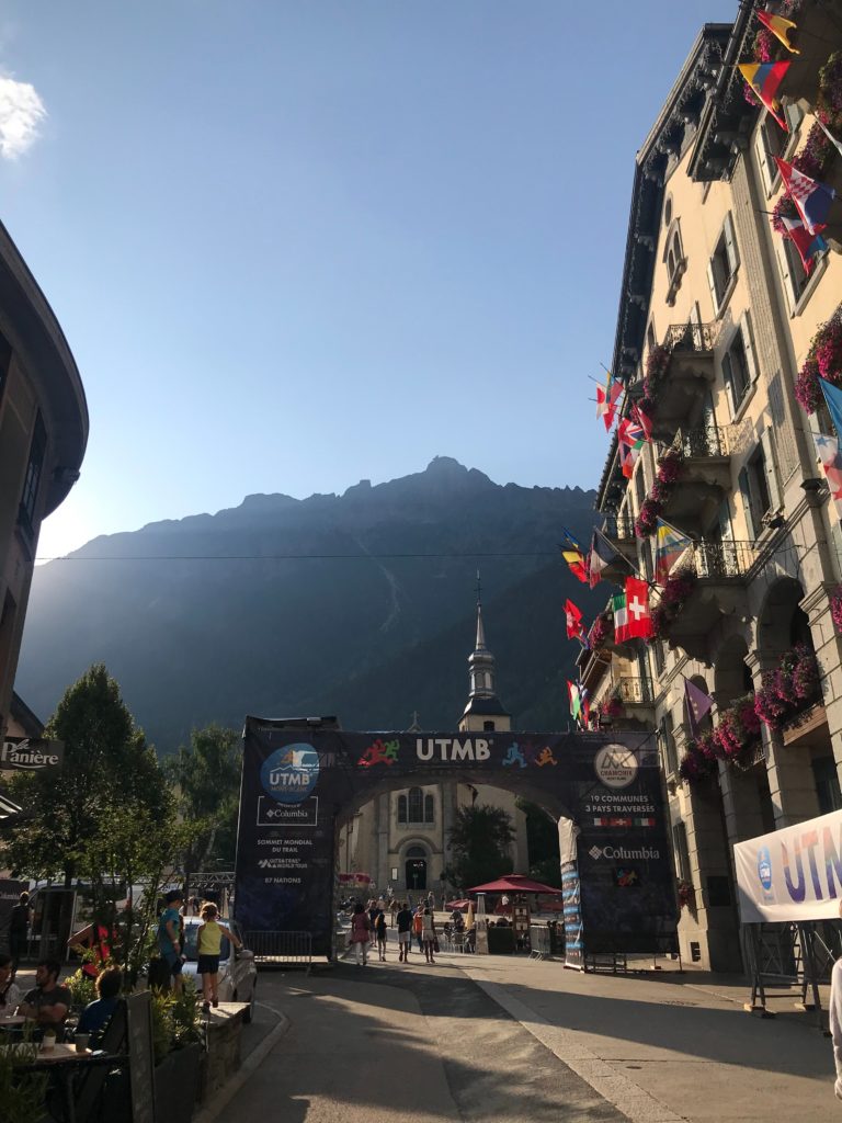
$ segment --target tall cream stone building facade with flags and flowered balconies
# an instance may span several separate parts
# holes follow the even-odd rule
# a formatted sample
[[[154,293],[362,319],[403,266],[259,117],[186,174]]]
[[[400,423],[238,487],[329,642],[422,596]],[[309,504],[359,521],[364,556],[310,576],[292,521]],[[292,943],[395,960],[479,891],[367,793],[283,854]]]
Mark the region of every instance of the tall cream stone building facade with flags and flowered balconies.
[[[772,227],[784,191],[774,157],[791,162],[815,137],[821,62],[799,62],[781,84],[785,133],[747,100],[734,65],[752,57],[759,7],[741,6],[733,26],[705,26],[637,156],[613,369],[623,414],[635,402],[651,412],[652,441],[626,478],[614,437],[597,505],[623,558],[606,576],[644,576],[660,611],[652,640],[617,645],[608,627],[579,659],[598,720],[658,739],[681,951],[713,969],[741,958],[733,843],[842,806],[831,617],[842,536],[813,440],[834,430],[795,393],[811,340],[842,299],[842,227],[829,226],[809,275]],[[804,0],[791,18],[830,55],[842,48],[842,20],[826,10]],[[829,154],[823,176],[842,188],[842,156]],[[692,539],[657,592],[656,517]],[[768,676],[795,665],[807,685],[791,713],[756,722],[748,711]],[[686,679],[713,699],[695,730]],[[722,751],[731,729],[745,736]]]

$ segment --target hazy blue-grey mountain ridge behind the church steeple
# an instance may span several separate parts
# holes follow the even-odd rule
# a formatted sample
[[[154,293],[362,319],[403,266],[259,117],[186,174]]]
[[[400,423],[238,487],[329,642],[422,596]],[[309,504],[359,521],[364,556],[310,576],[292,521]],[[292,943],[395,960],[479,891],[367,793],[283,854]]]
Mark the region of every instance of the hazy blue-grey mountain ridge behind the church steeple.
[[[495,484],[437,457],[341,495],[255,494],[216,514],[99,536],[72,564],[36,570],[16,688],[46,716],[103,661],[162,752],[192,725],[317,704],[344,707],[346,724],[402,728],[413,691],[431,724],[447,728],[467,699],[479,565],[492,647],[511,660],[501,660],[510,696],[524,714],[562,723],[566,700],[553,709],[557,684],[539,668],[569,670],[565,596],[586,612],[603,599],[556,560],[564,526],[586,540],[593,499]]]

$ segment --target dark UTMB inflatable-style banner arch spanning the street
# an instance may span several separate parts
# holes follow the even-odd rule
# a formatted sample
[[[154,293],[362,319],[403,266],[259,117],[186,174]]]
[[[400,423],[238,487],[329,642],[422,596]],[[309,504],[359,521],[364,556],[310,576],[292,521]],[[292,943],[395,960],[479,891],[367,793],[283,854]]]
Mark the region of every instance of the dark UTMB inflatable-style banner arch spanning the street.
[[[675,943],[651,734],[346,733],[247,718],[244,740],[235,911],[247,931],[306,931],[313,953],[330,956],[337,824],[379,793],[456,782],[514,792],[573,821],[566,886],[578,912],[578,870],[585,951]]]

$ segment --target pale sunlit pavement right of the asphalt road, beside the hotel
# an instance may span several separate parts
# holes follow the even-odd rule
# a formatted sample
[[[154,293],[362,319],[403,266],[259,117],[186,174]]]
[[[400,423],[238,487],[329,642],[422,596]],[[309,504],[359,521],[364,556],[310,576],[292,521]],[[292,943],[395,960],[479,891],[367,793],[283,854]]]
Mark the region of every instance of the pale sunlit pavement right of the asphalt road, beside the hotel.
[[[559,962],[502,956],[441,959],[456,961],[635,1123],[840,1117],[830,1041],[813,1015],[790,1006],[774,1020],[752,1017],[742,1008],[742,979],[583,975]]]

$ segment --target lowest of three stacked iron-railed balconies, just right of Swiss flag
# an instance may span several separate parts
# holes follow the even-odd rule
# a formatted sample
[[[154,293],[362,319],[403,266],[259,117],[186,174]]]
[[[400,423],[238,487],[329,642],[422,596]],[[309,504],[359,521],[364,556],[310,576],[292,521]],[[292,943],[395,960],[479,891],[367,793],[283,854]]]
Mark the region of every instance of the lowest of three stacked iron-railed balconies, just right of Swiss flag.
[[[754,542],[694,542],[685,556],[696,579],[684,602],[667,610],[662,637],[670,648],[708,663],[708,638],[724,617],[748,614],[745,586]],[[666,595],[665,595],[666,599]]]

